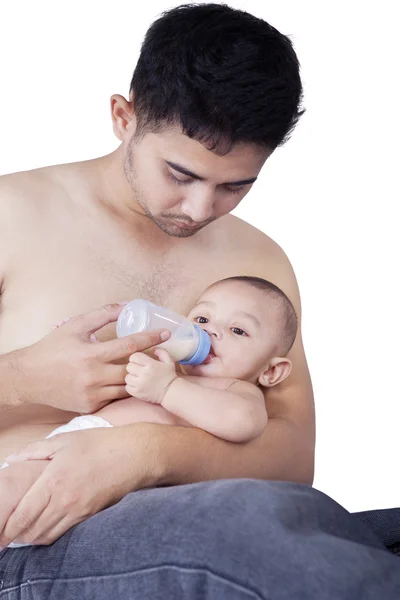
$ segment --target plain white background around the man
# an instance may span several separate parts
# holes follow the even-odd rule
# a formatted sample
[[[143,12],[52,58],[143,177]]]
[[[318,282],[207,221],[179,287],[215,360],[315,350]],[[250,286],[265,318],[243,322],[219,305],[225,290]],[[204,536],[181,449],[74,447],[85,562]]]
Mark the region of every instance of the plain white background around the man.
[[[133,0],[2,2],[0,173],[104,155],[163,10]],[[315,487],[348,510],[400,504],[400,51],[395,0],[231,1],[291,36],[303,116],[236,214],[297,273],[317,410]]]

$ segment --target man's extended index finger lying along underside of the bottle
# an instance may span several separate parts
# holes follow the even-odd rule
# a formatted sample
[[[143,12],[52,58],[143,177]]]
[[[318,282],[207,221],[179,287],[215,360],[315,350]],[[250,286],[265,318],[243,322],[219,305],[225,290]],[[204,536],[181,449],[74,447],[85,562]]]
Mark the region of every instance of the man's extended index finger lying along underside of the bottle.
[[[170,332],[167,329],[156,329],[154,331],[142,331],[122,338],[110,340],[97,344],[96,350],[101,353],[105,360],[119,360],[128,357],[135,352],[142,352],[152,346],[161,344],[167,340]]]

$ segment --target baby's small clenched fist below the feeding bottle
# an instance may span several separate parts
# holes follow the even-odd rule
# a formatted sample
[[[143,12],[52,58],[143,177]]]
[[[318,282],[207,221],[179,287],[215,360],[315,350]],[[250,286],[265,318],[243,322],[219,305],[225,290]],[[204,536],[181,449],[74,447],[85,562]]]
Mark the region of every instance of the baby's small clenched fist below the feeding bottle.
[[[166,350],[156,348],[153,352],[160,360],[143,352],[135,352],[129,357],[125,389],[139,400],[161,404],[167,389],[178,376],[175,363]]]

